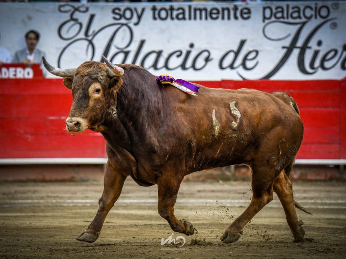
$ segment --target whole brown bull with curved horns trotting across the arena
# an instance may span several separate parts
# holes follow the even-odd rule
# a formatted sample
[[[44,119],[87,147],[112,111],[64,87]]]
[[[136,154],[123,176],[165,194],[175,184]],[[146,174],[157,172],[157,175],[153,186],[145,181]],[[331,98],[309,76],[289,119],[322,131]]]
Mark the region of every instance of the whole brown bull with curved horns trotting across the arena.
[[[227,228],[224,243],[237,241],[242,229],[275,191],[295,241],[304,229],[298,221],[289,174],[303,138],[303,124],[291,96],[256,90],[210,89],[198,96],[161,87],[156,77],[134,65],[85,62],[77,69],[49,65],[66,77],[73,102],[69,132],[99,131],[106,139],[108,162],[99,209],[77,238],[94,242],[128,176],[141,186],[158,185],[158,211],[172,230],[192,235],[194,228],[174,215],[180,184],[189,173],[246,164],[253,171],[253,196],[247,209]]]

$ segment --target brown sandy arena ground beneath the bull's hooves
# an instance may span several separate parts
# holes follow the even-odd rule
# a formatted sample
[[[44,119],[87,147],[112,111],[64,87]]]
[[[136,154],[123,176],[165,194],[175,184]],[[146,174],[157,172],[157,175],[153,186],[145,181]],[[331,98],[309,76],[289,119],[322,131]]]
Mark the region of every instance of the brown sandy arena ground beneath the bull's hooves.
[[[346,258],[345,182],[293,182],[295,199],[314,213],[298,211],[306,232],[303,243],[292,242],[276,196],[237,242],[220,241],[249,204],[250,182],[183,182],[175,214],[188,219],[198,234],[174,233],[180,243],[164,243],[173,232],[157,212],[157,187],[139,187],[130,179],[99,239],[77,241],[98,209],[102,190],[101,181],[0,183],[0,258]],[[180,235],[186,239],[183,246]]]

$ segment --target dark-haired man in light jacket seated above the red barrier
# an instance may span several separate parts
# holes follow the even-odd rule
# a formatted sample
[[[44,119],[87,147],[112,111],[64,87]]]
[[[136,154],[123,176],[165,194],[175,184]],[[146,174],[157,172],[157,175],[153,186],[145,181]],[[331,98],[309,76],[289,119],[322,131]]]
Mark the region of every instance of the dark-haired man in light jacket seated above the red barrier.
[[[38,63],[41,66],[42,72],[46,75],[46,70],[43,67],[42,56],[46,56],[46,53],[36,48],[40,34],[35,30],[29,30],[25,34],[26,48],[16,51],[13,58],[13,63],[23,63],[27,67],[31,67],[33,64]]]

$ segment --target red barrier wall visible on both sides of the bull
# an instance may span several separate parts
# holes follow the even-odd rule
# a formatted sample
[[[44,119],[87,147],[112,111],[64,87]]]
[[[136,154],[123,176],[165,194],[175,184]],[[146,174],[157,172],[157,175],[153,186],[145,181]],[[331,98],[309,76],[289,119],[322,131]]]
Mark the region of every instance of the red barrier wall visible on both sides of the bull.
[[[291,94],[305,126],[297,158],[346,158],[346,80],[198,83]],[[65,131],[71,101],[62,79],[0,79],[0,158],[106,157],[101,134]]]

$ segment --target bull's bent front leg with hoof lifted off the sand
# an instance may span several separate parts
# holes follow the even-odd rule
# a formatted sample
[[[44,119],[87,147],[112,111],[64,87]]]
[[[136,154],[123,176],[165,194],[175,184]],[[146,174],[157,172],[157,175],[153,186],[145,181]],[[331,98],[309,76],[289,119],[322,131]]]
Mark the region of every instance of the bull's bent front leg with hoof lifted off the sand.
[[[158,179],[158,211],[167,220],[171,229],[185,235],[193,235],[194,228],[186,219],[180,220],[174,215],[174,204],[177,200],[180,184],[183,179],[177,176],[161,175]]]

